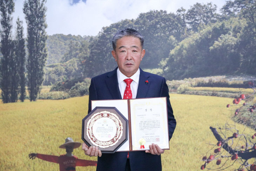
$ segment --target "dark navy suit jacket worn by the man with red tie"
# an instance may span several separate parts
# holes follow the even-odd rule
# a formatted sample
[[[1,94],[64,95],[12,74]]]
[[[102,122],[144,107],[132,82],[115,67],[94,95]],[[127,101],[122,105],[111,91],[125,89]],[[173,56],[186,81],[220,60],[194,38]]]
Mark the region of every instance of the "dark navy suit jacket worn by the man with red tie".
[[[93,77],[89,87],[89,107],[91,100],[122,99],[117,81],[117,68],[108,73]],[[148,84],[145,81],[148,80]],[[169,100],[169,90],[165,78],[144,72],[140,69],[140,80],[136,98],[167,97],[167,112],[169,139],[172,137],[176,120]],[[98,157],[97,171],[124,171],[127,152],[103,153]],[[162,170],[161,155],[151,155],[145,151],[130,151],[129,161],[131,171],[159,171]]]

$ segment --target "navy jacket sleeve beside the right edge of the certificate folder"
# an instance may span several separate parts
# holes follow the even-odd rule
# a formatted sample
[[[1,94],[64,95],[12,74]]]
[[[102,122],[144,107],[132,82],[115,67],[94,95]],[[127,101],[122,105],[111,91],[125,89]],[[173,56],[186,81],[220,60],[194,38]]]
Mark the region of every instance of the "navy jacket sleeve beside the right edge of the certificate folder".
[[[162,88],[161,88],[160,94],[161,94],[161,97],[167,98],[168,129],[169,129],[169,141],[170,141],[176,127],[176,120],[173,115],[173,108],[171,108],[169,89],[166,84],[165,78],[163,78],[163,81],[162,81]]]

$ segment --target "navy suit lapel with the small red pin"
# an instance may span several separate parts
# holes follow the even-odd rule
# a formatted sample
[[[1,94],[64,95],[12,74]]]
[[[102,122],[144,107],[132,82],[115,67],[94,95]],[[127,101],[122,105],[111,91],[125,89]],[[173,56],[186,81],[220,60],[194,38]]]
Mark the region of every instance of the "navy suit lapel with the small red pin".
[[[149,81],[147,84],[145,81],[147,81],[149,77],[149,74],[140,68],[140,80],[136,98],[145,98],[147,96],[151,81]]]

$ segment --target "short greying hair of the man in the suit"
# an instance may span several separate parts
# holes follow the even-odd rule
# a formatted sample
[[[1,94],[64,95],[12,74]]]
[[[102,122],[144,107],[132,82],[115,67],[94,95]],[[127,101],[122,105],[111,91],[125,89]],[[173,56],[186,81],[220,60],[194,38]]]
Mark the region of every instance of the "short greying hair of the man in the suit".
[[[126,29],[122,29],[116,32],[116,34],[113,36],[112,39],[112,46],[113,49],[116,50],[116,42],[117,40],[121,39],[124,36],[133,36],[133,37],[137,37],[140,39],[140,44],[141,44],[141,48],[143,49],[143,36],[140,34],[140,32],[138,32],[137,30],[133,29],[133,28],[126,28]]]

